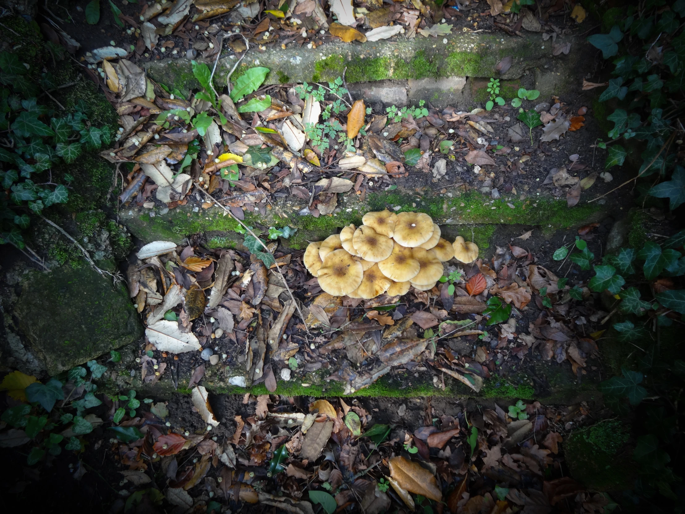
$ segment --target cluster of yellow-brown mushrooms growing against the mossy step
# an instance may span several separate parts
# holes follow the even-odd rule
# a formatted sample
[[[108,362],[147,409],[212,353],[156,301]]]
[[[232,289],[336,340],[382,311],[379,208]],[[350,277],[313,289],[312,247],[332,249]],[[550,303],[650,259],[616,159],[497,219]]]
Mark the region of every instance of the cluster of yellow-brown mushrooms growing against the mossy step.
[[[404,295],[414,286],[433,289],[443,276],[443,262],[464,264],[478,257],[478,247],[458,236],[453,244],[423,212],[367,212],[360,227],[310,243],[304,265],[319,286],[334,296],[371,299],[383,293]]]

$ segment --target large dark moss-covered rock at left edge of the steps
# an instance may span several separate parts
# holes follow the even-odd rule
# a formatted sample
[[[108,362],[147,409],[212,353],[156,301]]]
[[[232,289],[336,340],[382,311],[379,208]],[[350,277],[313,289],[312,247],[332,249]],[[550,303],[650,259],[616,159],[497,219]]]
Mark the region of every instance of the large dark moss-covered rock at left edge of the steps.
[[[20,284],[12,312],[18,331],[25,337],[27,350],[51,375],[142,336],[125,286],[112,287],[110,280],[85,263],[79,269],[29,271]]]

